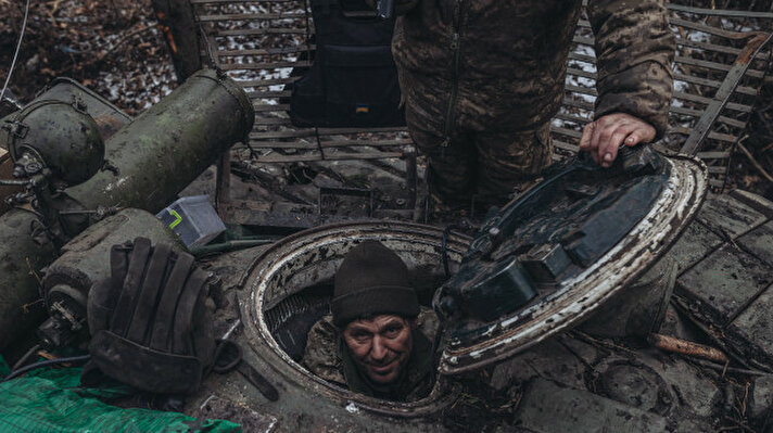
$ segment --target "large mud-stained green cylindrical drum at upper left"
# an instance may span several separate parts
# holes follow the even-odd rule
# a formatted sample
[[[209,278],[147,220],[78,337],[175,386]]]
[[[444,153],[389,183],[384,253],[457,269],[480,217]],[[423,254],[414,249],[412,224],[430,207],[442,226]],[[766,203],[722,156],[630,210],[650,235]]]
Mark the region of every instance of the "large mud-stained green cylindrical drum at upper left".
[[[200,71],[110,139],[105,160],[114,169],[65,192],[88,209],[138,207],[155,214],[244,139],[254,120],[239,85]]]

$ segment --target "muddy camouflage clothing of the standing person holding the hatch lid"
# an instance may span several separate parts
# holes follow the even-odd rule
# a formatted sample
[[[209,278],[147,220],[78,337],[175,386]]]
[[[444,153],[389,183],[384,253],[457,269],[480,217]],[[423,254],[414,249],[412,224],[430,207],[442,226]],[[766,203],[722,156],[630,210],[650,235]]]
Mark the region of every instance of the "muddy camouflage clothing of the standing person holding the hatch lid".
[[[538,136],[561,105],[567,55],[581,3],[396,1],[395,11],[403,15],[395,26],[392,52],[408,129],[430,155],[436,175],[432,182],[444,199],[468,199],[444,191],[459,193],[454,184],[458,177],[449,173],[456,168],[446,167],[459,167],[460,158],[468,163],[458,169],[471,173],[476,166],[479,173],[493,171],[497,182],[511,174],[511,186],[549,163],[545,157],[549,143],[538,142],[541,149],[527,151],[534,144],[528,136]],[[586,12],[597,54],[595,117],[628,113],[651,124],[656,139],[661,138],[668,127],[674,55],[663,0],[590,0]],[[464,150],[436,151],[440,145],[458,147],[467,141],[467,152],[474,152],[485,147],[481,143],[486,138],[470,137],[483,132],[499,137],[491,147],[508,149],[476,161],[469,161]],[[514,138],[502,139],[507,135]],[[509,155],[517,157],[509,160]],[[494,160],[487,156],[505,160],[490,165]],[[477,180],[467,179],[462,187],[469,189]],[[479,188],[477,192],[486,193],[493,187]]]

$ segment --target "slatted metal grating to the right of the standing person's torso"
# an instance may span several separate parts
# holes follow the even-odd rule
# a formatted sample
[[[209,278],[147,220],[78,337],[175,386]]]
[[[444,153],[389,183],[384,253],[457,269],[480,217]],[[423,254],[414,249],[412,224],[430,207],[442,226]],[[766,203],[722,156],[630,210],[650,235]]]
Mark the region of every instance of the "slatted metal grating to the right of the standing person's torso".
[[[730,158],[743,139],[755,99],[770,67],[770,36],[745,29],[749,20],[770,28],[773,13],[720,11],[668,3],[676,36],[674,97],[663,142],[698,156],[709,167],[709,182],[721,190]],[[720,27],[721,26],[721,27]],[[576,152],[582,127],[593,115],[595,54],[591,24],[581,20],[569,54],[563,106],[552,132],[557,156]]]

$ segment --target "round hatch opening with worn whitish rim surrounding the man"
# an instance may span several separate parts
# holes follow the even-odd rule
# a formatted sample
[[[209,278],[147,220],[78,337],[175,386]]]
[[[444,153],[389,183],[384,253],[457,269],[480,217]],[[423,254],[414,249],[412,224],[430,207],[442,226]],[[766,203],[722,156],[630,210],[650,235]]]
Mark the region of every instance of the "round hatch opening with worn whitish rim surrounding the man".
[[[345,254],[365,240],[379,240],[394,251],[409,269],[422,307],[429,308],[434,290],[447,278],[442,262],[442,229],[413,224],[351,224],[319,228],[275,245],[253,265],[245,285],[252,289],[252,324],[265,343],[256,355],[303,389],[342,403],[400,416],[419,416],[447,400],[448,390],[435,382],[429,396],[403,404],[353,394],[325,381],[302,365],[311,328],[330,313],[333,278]],[[452,234],[447,242],[451,272],[458,269],[469,238]],[[254,316],[257,314],[257,316]],[[266,352],[265,349],[269,349]],[[311,381],[311,382],[308,382]],[[317,385],[312,385],[312,383]],[[305,385],[304,383],[308,383]],[[319,384],[322,387],[319,387]]]

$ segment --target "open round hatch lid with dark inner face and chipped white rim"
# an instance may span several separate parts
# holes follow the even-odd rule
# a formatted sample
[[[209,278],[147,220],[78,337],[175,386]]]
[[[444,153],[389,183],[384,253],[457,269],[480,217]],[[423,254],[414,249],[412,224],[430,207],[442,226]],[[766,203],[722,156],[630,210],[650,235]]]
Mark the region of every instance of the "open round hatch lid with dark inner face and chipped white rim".
[[[486,221],[433,304],[440,372],[514,356],[569,329],[655,264],[700,207],[706,166],[642,147],[609,169],[576,158]]]

